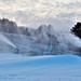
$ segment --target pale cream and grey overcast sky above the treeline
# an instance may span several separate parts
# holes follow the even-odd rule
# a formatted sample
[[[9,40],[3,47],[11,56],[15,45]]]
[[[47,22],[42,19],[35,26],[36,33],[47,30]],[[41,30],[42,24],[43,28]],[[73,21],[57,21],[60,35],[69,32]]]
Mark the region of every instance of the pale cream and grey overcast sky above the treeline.
[[[0,0],[0,17],[21,26],[81,22],[81,0]]]

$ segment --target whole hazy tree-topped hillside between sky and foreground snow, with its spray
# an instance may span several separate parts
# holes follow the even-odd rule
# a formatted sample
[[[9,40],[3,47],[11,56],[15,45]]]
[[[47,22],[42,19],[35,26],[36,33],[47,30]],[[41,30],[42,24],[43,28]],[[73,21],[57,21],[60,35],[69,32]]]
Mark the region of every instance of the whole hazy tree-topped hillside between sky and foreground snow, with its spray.
[[[57,29],[52,25],[41,25],[37,29],[18,27],[6,18],[0,19],[0,53],[81,55],[81,40],[67,29]],[[49,53],[50,45],[52,53]]]

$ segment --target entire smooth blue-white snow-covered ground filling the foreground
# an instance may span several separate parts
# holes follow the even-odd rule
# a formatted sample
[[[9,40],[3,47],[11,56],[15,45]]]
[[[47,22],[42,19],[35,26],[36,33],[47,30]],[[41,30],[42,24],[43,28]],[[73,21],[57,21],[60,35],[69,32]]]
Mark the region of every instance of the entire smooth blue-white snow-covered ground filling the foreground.
[[[81,57],[0,54],[0,81],[80,81]]]

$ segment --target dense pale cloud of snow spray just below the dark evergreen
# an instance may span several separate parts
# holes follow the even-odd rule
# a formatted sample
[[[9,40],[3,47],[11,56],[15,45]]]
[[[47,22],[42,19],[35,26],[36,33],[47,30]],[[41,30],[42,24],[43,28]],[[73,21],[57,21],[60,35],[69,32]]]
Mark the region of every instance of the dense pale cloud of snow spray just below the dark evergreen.
[[[59,31],[57,35],[58,48],[62,50],[77,51],[81,48],[81,40],[70,31]]]

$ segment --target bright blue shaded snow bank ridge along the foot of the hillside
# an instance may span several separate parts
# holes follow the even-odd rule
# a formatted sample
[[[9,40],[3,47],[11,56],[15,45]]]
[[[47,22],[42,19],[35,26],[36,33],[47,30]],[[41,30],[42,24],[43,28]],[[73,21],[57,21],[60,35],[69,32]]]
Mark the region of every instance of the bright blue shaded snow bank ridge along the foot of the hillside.
[[[15,68],[15,67],[40,67],[48,65],[70,65],[70,64],[79,64],[81,63],[81,58],[76,55],[50,55],[50,56],[32,56],[25,57],[13,54],[0,54],[0,66],[6,68]]]

